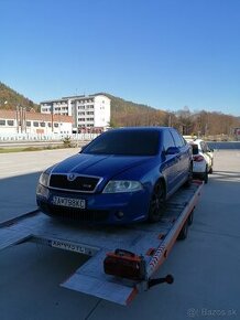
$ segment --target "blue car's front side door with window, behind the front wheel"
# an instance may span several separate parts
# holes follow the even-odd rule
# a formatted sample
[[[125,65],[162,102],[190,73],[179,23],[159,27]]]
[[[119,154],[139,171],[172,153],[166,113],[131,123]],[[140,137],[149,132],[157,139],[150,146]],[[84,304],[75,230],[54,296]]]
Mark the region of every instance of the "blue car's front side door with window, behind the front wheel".
[[[177,177],[179,174],[178,169],[179,163],[176,154],[167,154],[167,150],[170,150],[170,148],[175,147],[175,142],[170,129],[163,130],[162,143],[163,143],[162,172],[167,184],[167,193],[171,193],[177,183]]]

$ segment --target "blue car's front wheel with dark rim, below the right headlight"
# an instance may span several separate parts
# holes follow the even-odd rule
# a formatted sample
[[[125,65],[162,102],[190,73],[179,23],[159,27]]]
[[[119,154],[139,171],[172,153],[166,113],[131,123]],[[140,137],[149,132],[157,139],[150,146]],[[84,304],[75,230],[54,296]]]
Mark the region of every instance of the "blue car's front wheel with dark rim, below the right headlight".
[[[165,201],[166,201],[166,191],[164,183],[160,180],[156,182],[149,209],[149,222],[155,223],[159,222],[165,210]]]

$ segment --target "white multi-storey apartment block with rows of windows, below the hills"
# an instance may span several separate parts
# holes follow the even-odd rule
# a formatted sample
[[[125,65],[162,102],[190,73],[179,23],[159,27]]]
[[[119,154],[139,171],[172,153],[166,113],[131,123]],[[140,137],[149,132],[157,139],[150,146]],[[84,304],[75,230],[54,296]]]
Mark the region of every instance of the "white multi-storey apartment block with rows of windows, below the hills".
[[[74,130],[105,130],[110,122],[111,100],[103,94],[63,97],[41,103],[42,114],[73,116]]]

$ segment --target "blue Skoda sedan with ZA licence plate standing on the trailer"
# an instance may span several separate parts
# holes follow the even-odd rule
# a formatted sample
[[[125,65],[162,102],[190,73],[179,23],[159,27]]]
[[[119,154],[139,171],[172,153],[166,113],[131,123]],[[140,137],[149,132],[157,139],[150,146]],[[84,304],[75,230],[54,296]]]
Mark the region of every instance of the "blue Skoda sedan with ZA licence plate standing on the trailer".
[[[157,222],[192,172],[192,148],[174,128],[111,129],[44,171],[36,202],[47,215],[80,223]]]

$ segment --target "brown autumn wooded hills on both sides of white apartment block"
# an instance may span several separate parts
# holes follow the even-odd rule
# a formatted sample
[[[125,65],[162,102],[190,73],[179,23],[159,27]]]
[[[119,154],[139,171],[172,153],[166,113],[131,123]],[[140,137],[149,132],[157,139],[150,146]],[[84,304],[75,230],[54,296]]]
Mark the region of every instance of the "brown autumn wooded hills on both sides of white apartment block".
[[[240,128],[240,118],[231,115],[205,110],[192,113],[188,107],[168,113],[107,93],[101,94],[111,99],[110,127],[173,126],[184,135],[205,137],[215,135],[231,137],[234,136],[236,128]],[[0,108],[14,110],[18,105],[28,110],[40,109],[39,105],[0,82]]]

